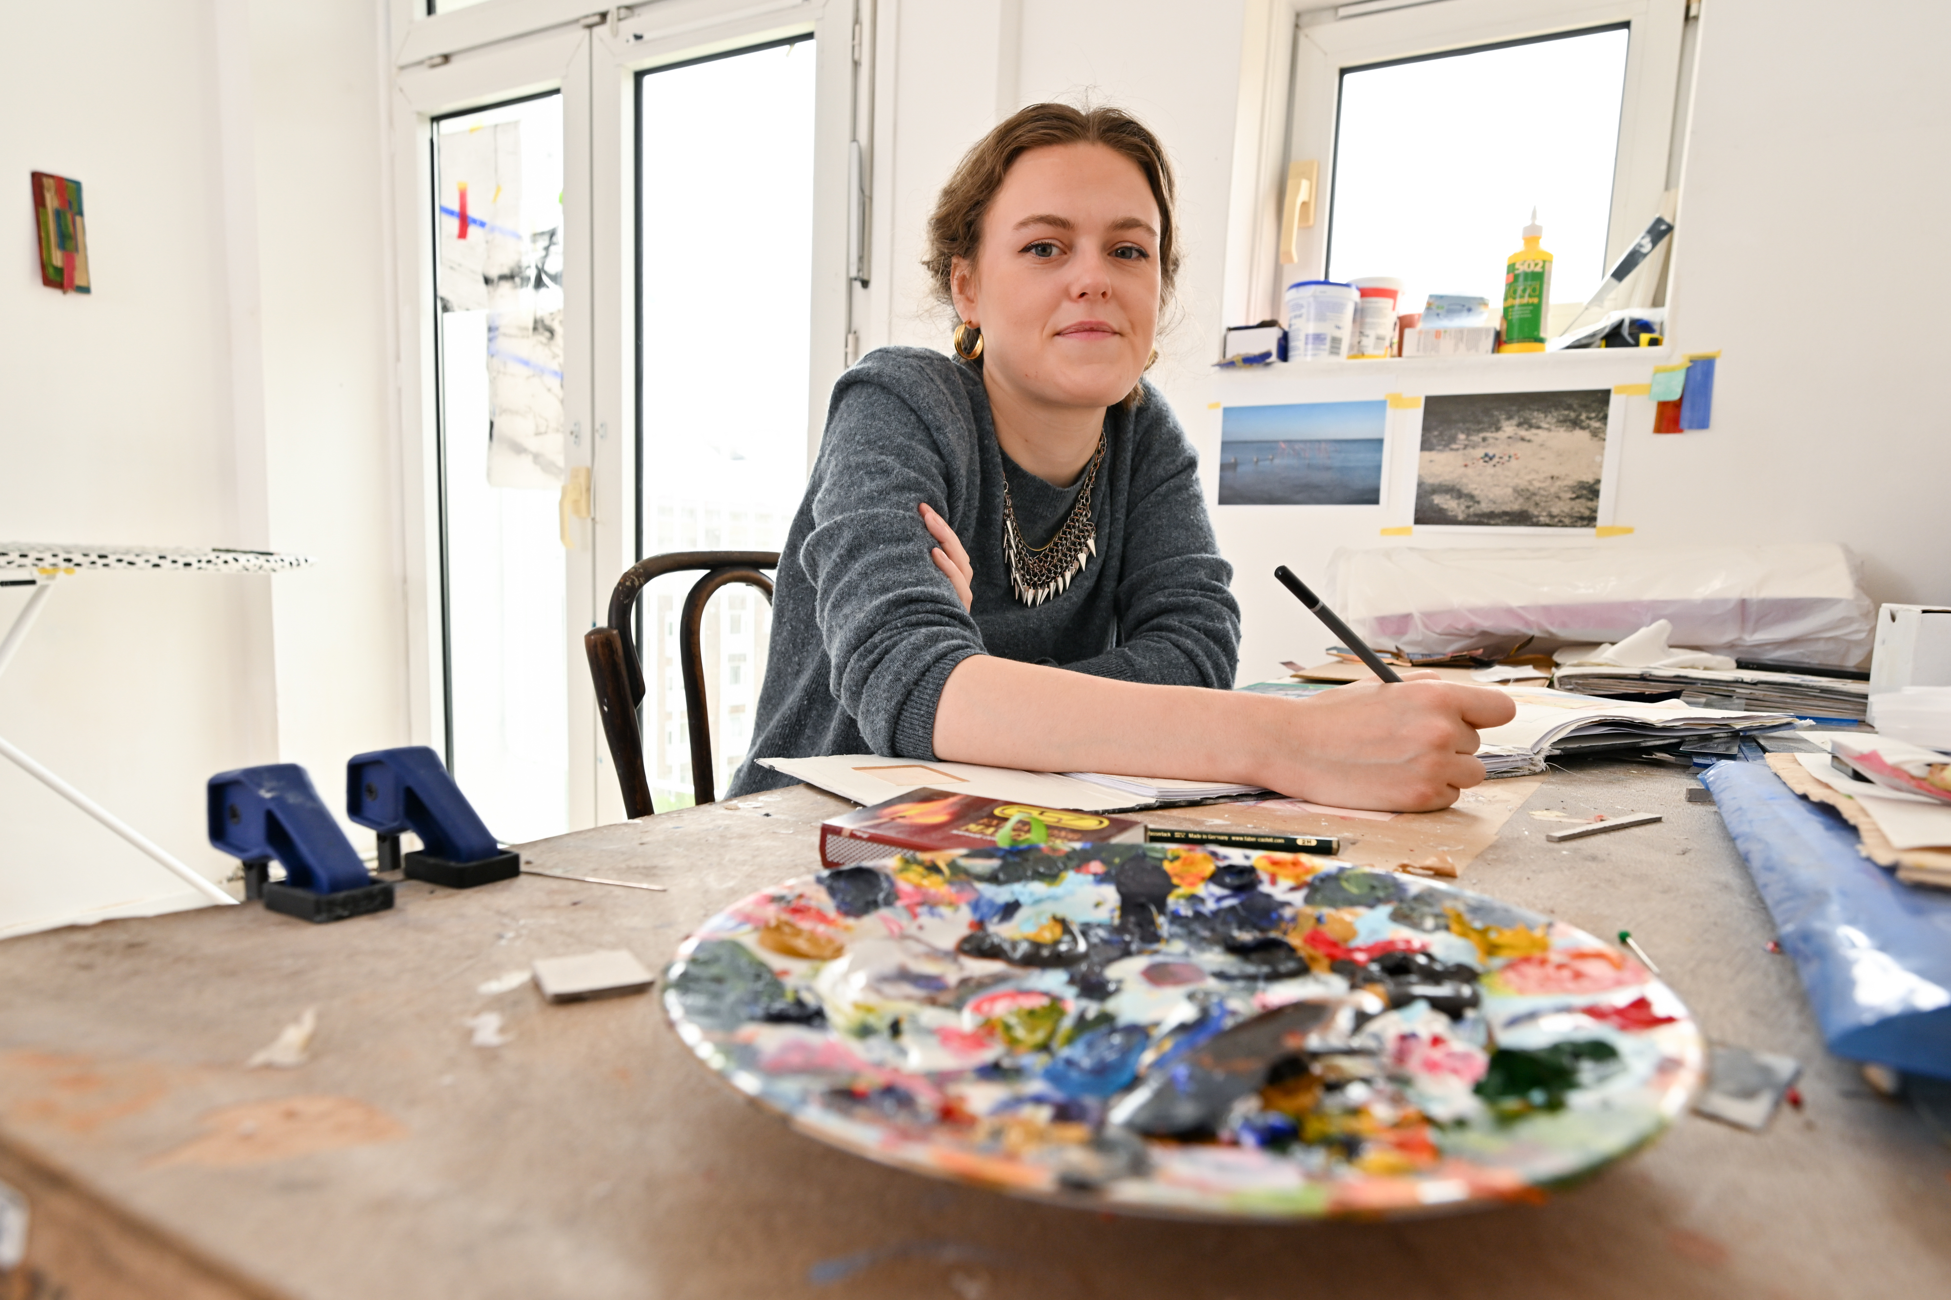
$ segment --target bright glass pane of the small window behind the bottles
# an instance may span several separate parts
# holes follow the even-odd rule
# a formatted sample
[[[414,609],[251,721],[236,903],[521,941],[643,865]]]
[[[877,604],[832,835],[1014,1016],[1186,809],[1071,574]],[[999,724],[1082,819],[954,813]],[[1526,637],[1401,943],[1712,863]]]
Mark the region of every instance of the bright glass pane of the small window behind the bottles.
[[[1502,302],[1504,255],[1535,210],[1553,298],[1590,298],[1606,275],[1627,39],[1621,23],[1344,68],[1327,279],[1393,275],[1411,312],[1430,292]],[[1549,111],[1483,111],[1512,99]]]

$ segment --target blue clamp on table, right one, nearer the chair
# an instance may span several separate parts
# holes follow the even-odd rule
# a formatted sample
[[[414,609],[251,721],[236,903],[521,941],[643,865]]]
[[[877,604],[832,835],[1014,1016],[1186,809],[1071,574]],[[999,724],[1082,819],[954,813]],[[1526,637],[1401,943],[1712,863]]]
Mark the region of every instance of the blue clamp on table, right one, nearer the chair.
[[[345,815],[378,832],[378,869],[412,881],[474,889],[521,875],[521,854],[503,852],[468,797],[425,745],[377,748],[345,764]],[[400,834],[425,846],[400,858]]]

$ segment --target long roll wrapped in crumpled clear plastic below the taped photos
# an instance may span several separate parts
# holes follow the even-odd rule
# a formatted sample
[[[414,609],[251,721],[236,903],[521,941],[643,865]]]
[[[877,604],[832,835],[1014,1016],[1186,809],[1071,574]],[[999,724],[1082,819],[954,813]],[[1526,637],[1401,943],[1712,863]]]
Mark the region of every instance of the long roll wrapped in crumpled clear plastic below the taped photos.
[[[1619,641],[1658,620],[1672,645],[1742,659],[1853,665],[1877,606],[1836,542],[1336,550],[1334,610],[1381,649],[1455,655]]]

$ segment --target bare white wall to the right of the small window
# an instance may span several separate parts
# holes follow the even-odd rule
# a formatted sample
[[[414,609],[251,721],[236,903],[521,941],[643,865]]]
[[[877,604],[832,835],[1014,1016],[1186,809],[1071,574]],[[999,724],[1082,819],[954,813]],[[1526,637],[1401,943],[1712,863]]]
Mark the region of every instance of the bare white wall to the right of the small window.
[[[1625,462],[1633,540],[1836,540],[1873,598],[1951,600],[1947,47],[1937,0],[1703,6],[1674,343],[1723,349],[1715,427]]]

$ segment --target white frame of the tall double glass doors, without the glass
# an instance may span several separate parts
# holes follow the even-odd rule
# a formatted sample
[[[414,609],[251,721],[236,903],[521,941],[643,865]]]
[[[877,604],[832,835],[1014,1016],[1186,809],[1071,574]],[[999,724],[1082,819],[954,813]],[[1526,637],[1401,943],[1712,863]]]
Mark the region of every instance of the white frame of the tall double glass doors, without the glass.
[[[392,318],[398,357],[408,672],[412,737],[441,746],[441,520],[433,300],[433,121],[538,92],[562,92],[564,125],[564,407],[570,464],[591,470],[591,518],[564,552],[570,663],[570,826],[622,819],[581,637],[607,618],[609,593],[636,561],[636,125],[634,76],[790,35],[816,39],[814,306],[808,466],[825,396],[845,368],[853,294],[847,281],[847,156],[856,125],[855,27],[872,0],[657,0],[591,8],[591,0],[486,0],[427,16],[423,0],[392,0]],[[757,273],[759,259],[753,259]],[[763,292],[753,285],[755,308]]]

